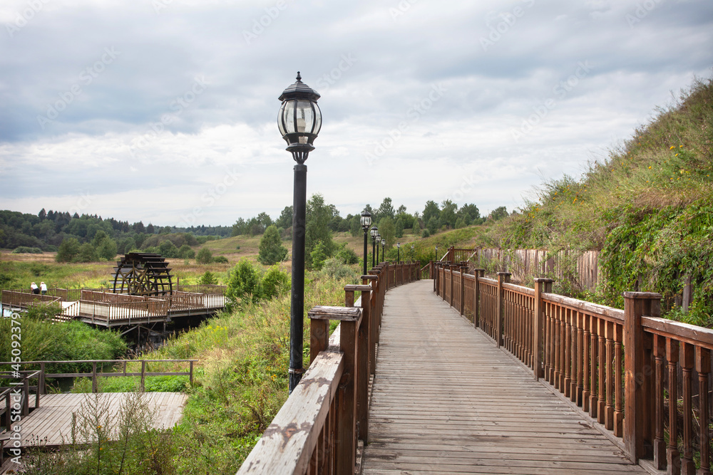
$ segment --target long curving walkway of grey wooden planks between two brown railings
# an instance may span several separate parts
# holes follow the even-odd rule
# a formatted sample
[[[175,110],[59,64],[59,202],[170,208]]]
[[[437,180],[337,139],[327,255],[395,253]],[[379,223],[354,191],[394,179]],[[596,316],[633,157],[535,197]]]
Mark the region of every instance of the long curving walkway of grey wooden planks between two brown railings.
[[[386,294],[362,474],[646,473],[432,289]]]

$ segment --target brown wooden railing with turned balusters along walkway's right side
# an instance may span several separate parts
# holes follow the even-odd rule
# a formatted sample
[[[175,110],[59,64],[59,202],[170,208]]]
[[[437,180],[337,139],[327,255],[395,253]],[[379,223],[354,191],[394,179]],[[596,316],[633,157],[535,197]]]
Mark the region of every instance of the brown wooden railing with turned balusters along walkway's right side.
[[[660,318],[657,293],[627,292],[620,310],[554,294],[549,278],[527,288],[465,270],[436,263],[438,295],[622,438],[632,460],[669,474],[694,474],[699,460],[711,473],[713,330]]]

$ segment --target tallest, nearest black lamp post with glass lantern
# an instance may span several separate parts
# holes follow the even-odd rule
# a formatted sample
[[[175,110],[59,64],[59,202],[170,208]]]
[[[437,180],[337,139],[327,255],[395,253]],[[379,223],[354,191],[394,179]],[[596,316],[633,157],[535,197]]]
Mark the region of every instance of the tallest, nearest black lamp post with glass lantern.
[[[304,323],[304,215],[307,207],[307,160],[314,150],[314,139],[322,128],[322,112],[317,105],[319,94],[297,80],[282,91],[282,105],[277,127],[292,153],[294,194],[292,195],[292,300],[289,306],[289,392],[302,379],[302,335]]]

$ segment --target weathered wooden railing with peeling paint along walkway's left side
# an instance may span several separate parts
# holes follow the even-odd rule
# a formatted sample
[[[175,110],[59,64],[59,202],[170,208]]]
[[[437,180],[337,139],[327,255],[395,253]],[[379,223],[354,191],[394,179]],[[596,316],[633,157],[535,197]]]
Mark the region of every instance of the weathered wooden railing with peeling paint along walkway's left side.
[[[238,474],[354,474],[359,441],[369,440],[369,378],[384,296],[417,278],[418,263],[380,263],[360,285],[344,288],[344,307],[307,312],[311,364]],[[331,337],[329,320],[339,320]]]

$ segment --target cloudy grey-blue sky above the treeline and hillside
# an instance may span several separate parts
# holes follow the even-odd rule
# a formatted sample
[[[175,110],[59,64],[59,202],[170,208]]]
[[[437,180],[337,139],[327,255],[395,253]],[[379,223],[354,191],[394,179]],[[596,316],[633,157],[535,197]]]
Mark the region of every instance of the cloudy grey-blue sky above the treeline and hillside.
[[[2,0],[0,25],[0,208],[160,225],[292,204],[297,71],[307,192],[342,216],[510,211],[713,73],[710,0]]]

